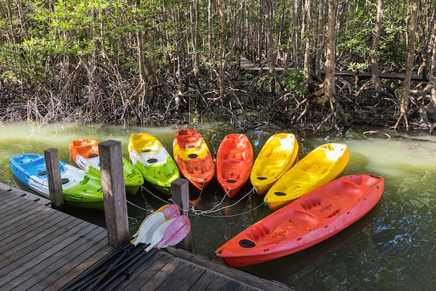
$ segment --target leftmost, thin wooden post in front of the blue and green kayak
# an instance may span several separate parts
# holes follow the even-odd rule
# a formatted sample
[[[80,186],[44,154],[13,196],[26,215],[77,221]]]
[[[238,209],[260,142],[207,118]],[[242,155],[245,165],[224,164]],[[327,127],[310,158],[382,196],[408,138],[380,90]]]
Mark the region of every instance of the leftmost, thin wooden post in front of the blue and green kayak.
[[[65,209],[65,202],[63,200],[61,166],[59,165],[58,150],[53,148],[46,149],[44,156],[52,208],[63,211]]]

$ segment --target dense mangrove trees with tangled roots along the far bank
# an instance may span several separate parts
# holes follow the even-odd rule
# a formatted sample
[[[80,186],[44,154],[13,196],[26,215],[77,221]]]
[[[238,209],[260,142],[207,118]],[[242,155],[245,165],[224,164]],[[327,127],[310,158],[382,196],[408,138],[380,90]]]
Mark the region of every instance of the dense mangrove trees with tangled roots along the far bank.
[[[0,3],[3,122],[436,121],[434,0]]]

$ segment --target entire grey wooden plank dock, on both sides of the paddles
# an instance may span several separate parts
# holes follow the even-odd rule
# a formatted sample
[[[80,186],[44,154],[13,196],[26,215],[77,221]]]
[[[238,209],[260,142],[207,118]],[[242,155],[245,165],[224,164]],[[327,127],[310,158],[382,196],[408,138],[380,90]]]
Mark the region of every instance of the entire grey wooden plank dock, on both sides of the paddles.
[[[0,183],[0,290],[59,290],[104,258],[103,227]],[[176,248],[157,251],[116,290],[295,290]]]

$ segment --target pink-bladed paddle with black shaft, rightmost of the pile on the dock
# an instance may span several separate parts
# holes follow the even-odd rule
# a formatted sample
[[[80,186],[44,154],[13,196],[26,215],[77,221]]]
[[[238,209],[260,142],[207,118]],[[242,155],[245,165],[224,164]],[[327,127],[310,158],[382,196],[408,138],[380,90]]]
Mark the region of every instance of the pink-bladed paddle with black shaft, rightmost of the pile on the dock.
[[[112,283],[112,285],[109,286],[109,288],[107,288],[107,291],[114,290],[114,288],[116,288],[118,284],[124,281],[125,278],[130,277],[133,271],[141,266],[141,264],[146,262],[146,260],[148,260],[148,258],[150,258],[150,256],[153,255],[155,251],[160,248],[165,248],[166,246],[174,246],[178,244],[180,241],[182,241],[182,239],[187,236],[187,234],[191,230],[191,222],[189,221],[189,218],[185,215],[179,216],[178,218],[173,218],[173,220],[169,220],[166,223],[170,224],[168,226],[162,225],[153,234],[153,239],[150,243],[150,246],[151,248],[156,248],[154,248],[152,252],[149,252],[151,248],[150,246],[148,246],[143,251],[143,254],[145,255],[138,255],[137,258],[132,260],[129,264],[125,265],[116,274],[114,274],[114,276],[109,278],[109,280],[107,280],[107,283],[114,281],[114,279],[121,275],[116,281],[114,281],[114,283]],[[104,286],[107,285],[107,283],[104,283]],[[102,286],[102,288],[104,286]]]

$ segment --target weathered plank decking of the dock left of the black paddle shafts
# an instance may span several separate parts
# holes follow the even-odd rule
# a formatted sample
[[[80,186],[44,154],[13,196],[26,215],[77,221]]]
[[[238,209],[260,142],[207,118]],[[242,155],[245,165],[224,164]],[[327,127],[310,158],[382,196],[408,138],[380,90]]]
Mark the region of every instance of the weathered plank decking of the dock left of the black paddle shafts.
[[[1,290],[59,290],[114,249],[103,227],[25,196],[0,183]]]

